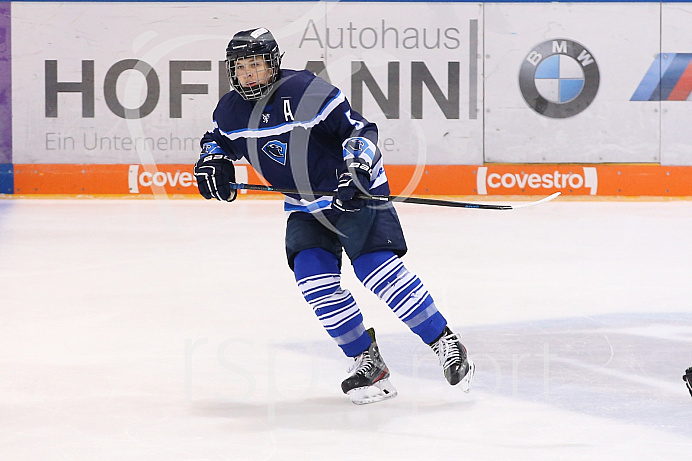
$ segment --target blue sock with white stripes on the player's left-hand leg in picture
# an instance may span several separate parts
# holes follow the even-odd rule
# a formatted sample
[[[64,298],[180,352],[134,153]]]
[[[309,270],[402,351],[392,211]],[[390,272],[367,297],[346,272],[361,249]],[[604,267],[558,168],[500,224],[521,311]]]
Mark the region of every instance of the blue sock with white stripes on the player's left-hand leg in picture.
[[[327,333],[349,357],[366,350],[372,340],[348,290],[341,288],[336,257],[321,248],[303,250],[295,258],[294,275],[305,300]]]

